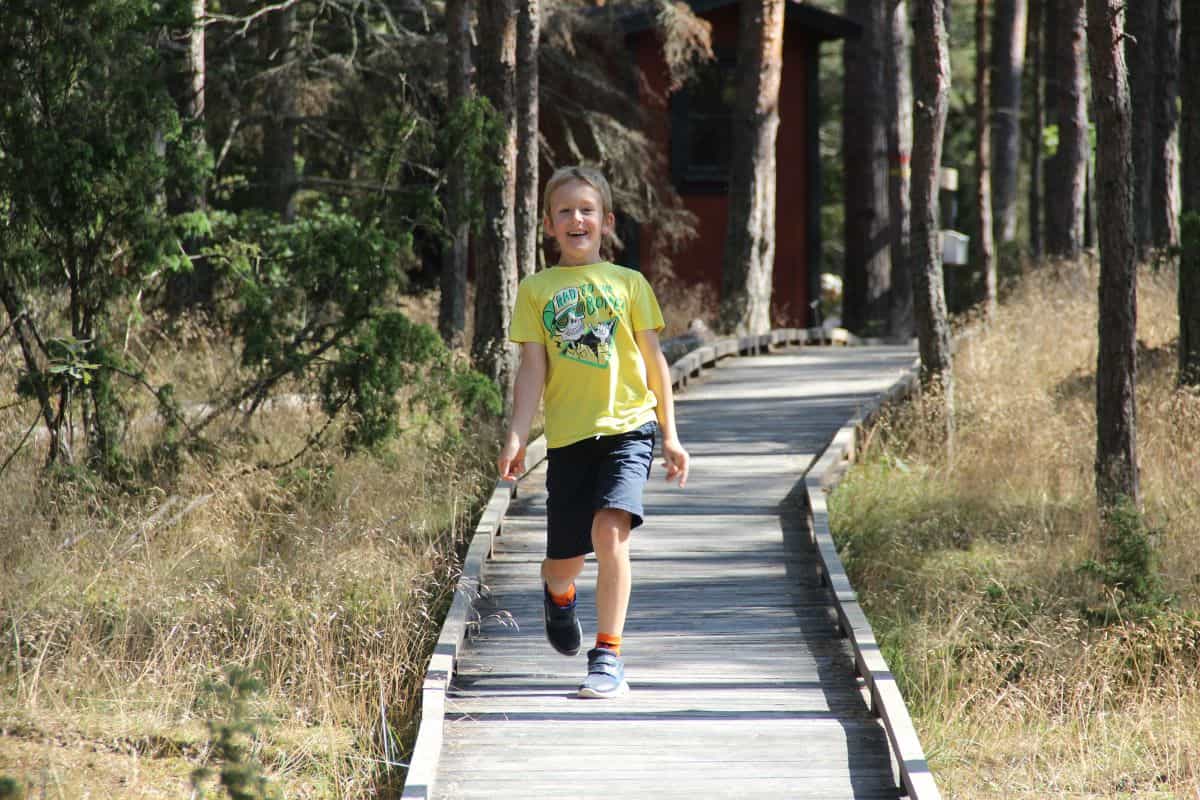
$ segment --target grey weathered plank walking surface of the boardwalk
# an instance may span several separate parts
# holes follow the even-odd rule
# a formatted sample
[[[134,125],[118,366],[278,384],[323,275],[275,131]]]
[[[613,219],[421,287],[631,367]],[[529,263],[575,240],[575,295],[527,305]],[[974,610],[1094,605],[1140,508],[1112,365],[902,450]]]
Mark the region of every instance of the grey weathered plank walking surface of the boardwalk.
[[[803,474],[913,360],[805,348],[722,362],[678,396],[686,489],[655,459],[634,534],[623,655],[632,692],[574,697],[581,652],[546,643],[545,467],[484,571],[478,631],[445,699],[439,798],[896,798],[888,741],[838,633]],[[595,634],[588,561],[584,650]]]

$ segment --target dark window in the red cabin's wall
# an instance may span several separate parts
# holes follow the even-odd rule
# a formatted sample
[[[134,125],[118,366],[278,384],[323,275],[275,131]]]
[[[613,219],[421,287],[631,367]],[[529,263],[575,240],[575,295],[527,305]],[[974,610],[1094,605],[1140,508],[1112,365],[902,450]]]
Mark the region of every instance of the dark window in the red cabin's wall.
[[[672,95],[671,174],[679,191],[728,188],[736,95],[732,54],[719,54]]]

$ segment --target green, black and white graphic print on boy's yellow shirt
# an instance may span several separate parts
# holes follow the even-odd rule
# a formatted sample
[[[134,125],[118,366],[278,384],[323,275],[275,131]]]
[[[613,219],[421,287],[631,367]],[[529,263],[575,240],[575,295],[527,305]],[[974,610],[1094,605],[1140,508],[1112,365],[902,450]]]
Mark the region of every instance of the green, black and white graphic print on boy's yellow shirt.
[[[556,294],[541,312],[558,355],[589,367],[606,368],[612,337],[625,300],[607,284],[584,283]]]

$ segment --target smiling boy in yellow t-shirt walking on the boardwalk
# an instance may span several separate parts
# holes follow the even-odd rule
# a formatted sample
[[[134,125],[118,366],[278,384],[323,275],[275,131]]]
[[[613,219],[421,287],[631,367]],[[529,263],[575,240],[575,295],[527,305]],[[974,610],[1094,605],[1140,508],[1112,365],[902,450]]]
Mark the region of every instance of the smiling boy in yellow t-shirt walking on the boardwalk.
[[[667,480],[688,482],[688,452],[659,348],[662,312],[640,272],[600,258],[613,230],[612,191],[598,170],[564,167],[546,182],[542,228],[558,265],[517,290],[509,338],[521,345],[512,420],[497,465],[524,471],[529,425],[545,391],[547,531],[541,565],[546,638],[563,655],[580,650],[575,578],[596,555],[596,643],[580,697],[629,692],[620,660],[631,585],[630,531],[642,524],[642,487],[655,432]]]

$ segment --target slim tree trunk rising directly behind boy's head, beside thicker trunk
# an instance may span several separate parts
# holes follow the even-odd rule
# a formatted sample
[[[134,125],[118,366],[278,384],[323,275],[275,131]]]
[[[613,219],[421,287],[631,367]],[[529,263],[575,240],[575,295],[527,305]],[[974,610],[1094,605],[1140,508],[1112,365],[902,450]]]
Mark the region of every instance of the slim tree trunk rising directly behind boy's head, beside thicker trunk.
[[[517,0],[517,273],[538,271],[538,37],[540,0]]]

